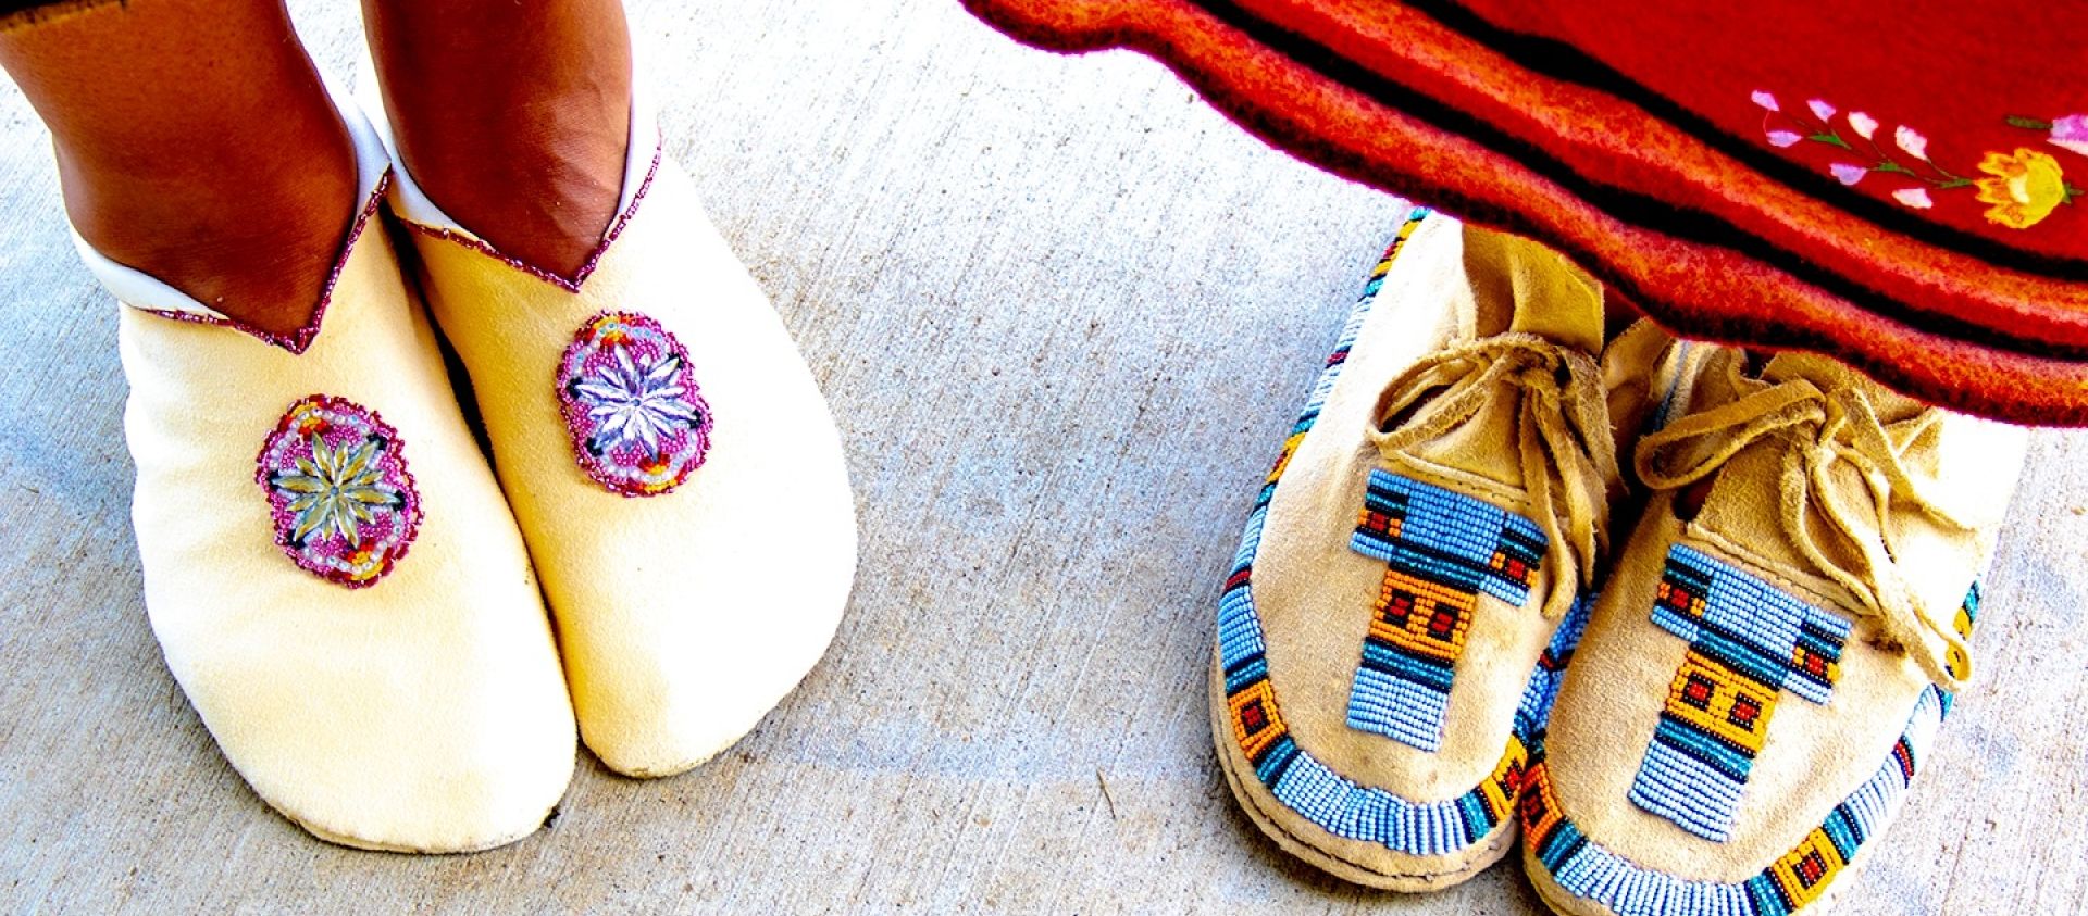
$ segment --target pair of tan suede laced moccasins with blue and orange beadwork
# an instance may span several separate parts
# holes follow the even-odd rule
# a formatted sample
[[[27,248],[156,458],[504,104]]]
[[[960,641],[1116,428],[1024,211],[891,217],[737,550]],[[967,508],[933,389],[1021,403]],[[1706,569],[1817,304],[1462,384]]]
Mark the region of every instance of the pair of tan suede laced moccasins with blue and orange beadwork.
[[[1228,782],[1372,887],[1520,835],[1562,914],[1817,912],[1969,676],[2023,449],[1821,357],[1606,340],[1560,255],[1418,213],[1226,580]]]

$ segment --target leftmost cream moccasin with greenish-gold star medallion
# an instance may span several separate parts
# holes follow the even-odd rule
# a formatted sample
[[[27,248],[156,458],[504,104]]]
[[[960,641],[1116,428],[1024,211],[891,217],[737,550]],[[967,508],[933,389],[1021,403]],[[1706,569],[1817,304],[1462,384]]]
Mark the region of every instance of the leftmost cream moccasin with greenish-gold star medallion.
[[[144,599],[232,766],[313,835],[468,851],[543,824],[574,722],[522,536],[367,204],[267,336],[79,242],[123,303]]]

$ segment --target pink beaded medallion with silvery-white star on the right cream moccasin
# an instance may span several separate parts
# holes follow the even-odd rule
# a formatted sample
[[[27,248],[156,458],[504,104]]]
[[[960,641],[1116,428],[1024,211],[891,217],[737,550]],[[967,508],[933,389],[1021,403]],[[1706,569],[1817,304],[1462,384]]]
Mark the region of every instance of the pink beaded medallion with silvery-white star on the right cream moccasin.
[[[689,351],[645,315],[606,311],[583,323],[557,363],[557,401],[574,459],[610,492],[658,497],[710,453],[710,405]]]

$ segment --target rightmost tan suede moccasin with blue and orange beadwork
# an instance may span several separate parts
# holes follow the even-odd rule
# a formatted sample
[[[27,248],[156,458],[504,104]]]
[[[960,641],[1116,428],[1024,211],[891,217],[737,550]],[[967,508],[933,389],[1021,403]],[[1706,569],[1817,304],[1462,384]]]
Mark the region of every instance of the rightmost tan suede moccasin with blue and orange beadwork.
[[[1574,916],[1819,912],[1969,674],[2025,434],[1833,361],[1716,351],[1639,442],[1658,490],[1595,603],[1520,807]]]

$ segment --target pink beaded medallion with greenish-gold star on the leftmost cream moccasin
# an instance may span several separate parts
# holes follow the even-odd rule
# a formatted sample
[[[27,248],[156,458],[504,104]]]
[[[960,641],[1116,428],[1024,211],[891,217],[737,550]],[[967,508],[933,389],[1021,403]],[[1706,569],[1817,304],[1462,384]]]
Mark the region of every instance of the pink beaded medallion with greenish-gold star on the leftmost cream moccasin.
[[[284,413],[255,459],[276,545],[328,582],[384,578],[420,532],[405,444],[376,411],[313,394]]]

